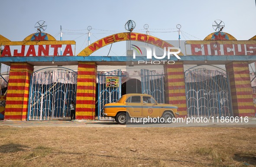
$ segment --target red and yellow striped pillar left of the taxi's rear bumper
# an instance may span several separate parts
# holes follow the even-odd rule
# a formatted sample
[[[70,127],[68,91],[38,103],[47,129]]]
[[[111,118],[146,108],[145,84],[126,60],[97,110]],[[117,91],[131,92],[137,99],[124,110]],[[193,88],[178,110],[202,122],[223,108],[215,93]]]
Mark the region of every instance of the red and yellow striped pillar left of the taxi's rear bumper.
[[[97,64],[78,62],[78,82],[76,94],[76,119],[94,119]]]

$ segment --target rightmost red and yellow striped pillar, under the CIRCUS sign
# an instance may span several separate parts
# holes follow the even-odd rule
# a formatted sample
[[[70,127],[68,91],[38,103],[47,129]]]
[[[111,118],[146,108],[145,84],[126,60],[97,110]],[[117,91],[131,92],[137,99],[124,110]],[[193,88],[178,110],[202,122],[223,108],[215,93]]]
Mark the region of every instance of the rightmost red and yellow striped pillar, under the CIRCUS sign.
[[[246,61],[226,64],[234,116],[255,115],[249,65]]]

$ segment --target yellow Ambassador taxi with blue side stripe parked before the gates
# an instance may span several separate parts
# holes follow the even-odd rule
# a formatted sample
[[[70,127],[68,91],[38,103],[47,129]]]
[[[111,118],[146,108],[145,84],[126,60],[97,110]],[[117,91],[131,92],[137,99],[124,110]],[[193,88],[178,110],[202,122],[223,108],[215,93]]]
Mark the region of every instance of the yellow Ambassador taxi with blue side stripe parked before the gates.
[[[160,104],[148,94],[131,93],[123,95],[117,102],[104,106],[103,116],[114,118],[117,123],[125,125],[129,117],[169,118],[177,117],[178,107],[172,104]],[[170,123],[170,122],[169,122]]]

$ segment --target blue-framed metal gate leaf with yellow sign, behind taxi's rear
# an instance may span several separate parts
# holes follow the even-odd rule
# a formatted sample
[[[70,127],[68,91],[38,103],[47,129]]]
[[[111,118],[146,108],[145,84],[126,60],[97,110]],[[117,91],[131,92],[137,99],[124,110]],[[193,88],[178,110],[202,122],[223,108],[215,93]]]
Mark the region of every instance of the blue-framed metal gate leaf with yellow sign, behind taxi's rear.
[[[110,117],[102,116],[104,105],[107,103],[114,103],[121,97],[121,70],[106,72],[104,74],[97,74],[98,77],[98,120],[112,119]],[[107,85],[107,77],[118,77],[118,85]]]

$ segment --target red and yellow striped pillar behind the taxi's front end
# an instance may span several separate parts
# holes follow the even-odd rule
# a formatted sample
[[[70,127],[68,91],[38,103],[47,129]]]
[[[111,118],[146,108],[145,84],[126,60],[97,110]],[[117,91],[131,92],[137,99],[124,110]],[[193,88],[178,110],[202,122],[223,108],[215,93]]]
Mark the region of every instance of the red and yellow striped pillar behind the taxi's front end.
[[[185,117],[188,112],[183,62],[165,64],[164,71],[167,103],[177,106],[179,117]]]

